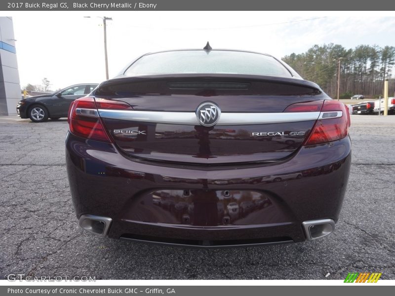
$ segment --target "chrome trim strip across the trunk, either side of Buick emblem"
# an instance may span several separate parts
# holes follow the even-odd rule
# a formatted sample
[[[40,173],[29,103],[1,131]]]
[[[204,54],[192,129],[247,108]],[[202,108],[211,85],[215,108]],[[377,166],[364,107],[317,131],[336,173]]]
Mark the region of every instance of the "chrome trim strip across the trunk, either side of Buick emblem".
[[[99,109],[103,118],[141,122],[200,125],[195,112],[129,111]],[[320,112],[235,113],[222,112],[218,125],[248,125],[317,120]]]

